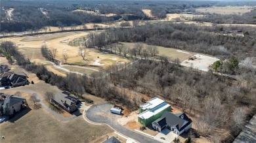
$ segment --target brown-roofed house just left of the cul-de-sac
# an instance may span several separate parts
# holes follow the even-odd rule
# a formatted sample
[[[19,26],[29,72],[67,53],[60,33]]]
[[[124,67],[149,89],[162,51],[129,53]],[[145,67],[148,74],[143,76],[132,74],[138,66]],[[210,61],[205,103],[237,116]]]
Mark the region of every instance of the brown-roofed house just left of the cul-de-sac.
[[[62,93],[54,95],[52,101],[69,113],[77,110],[76,104],[78,103],[78,98],[74,95],[71,95],[68,91],[63,91]]]

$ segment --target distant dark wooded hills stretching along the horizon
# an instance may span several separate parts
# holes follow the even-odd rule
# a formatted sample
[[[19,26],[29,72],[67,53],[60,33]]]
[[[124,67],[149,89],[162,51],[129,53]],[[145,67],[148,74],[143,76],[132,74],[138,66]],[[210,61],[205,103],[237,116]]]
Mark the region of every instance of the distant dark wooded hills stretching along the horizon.
[[[38,31],[47,26],[71,26],[86,23],[102,23],[114,20],[150,20],[142,9],[152,10],[156,18],[165,18],[168,13],[196,12],[198,7],[212,7],[223,5],[250,5],[253,2],[241,1],[228,3],[220,1],[1,1],[1,32]],[[255,3],[254,3],[255,5]],[[14,8],[11,17],[6,10]],[[73,10],[89,10],[98,14],[73,12]],[[100,14],[117,14],[103,16]],[[211,14],[197,18],[200,22],[247,24],[255,22],[255,12],[232,15]]]

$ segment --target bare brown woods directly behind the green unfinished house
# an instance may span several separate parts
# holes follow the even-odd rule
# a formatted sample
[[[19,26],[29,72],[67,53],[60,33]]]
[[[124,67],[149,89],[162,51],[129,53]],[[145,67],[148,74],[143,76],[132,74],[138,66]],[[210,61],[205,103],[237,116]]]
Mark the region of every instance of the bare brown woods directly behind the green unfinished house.
[[[110,67],[105,80],[116,87],[160,95],[183,112],[198,118],[196,129],[214,142],[229,140],[240,133],[248,114],[255,114],[255,76],[235,80],[212,72],[179,67],[178,63],[140,60],[119,71]],[[256,72],[253,72],[256,74]],[[136,103],[136,98],[135,98]],[[223,132],[221,132],[221,129]],[[220,131],[220,132],[218,132]],[[221,136],[228,131],[228,138]]]

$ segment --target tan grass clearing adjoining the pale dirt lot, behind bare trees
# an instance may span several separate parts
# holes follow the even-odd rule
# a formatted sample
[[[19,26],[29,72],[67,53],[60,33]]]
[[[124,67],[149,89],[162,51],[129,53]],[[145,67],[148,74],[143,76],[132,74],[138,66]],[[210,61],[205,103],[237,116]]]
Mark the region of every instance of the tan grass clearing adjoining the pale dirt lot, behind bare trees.
[[[121,44],[124,44],[125,46],[129,48],[135,47],[134,42],[121,42]],[[143,44],[144,47],[148,46],[148,44]],[[158,48],[159,54],[158,56],[166,56],[171,59],[177,59],[179,58],[180,61],[184,61],[185,59],[188,59],[188,57],[193,56],[194,54],[192,52],[184,53],[186,51],[179,52],[179,49],[175,48],[165,48],[163,46],[156,46]]]

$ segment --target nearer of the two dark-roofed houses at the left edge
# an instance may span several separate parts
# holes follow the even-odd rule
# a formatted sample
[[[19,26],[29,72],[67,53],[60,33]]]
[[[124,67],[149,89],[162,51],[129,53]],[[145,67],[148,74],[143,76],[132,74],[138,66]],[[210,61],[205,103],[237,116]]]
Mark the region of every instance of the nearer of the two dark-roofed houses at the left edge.
[[[19,112],[24,106],[26,106],[26,99],[18,97],[16,95],[1,94],[0,112],[3,115],[10,116],[16,112]]]

